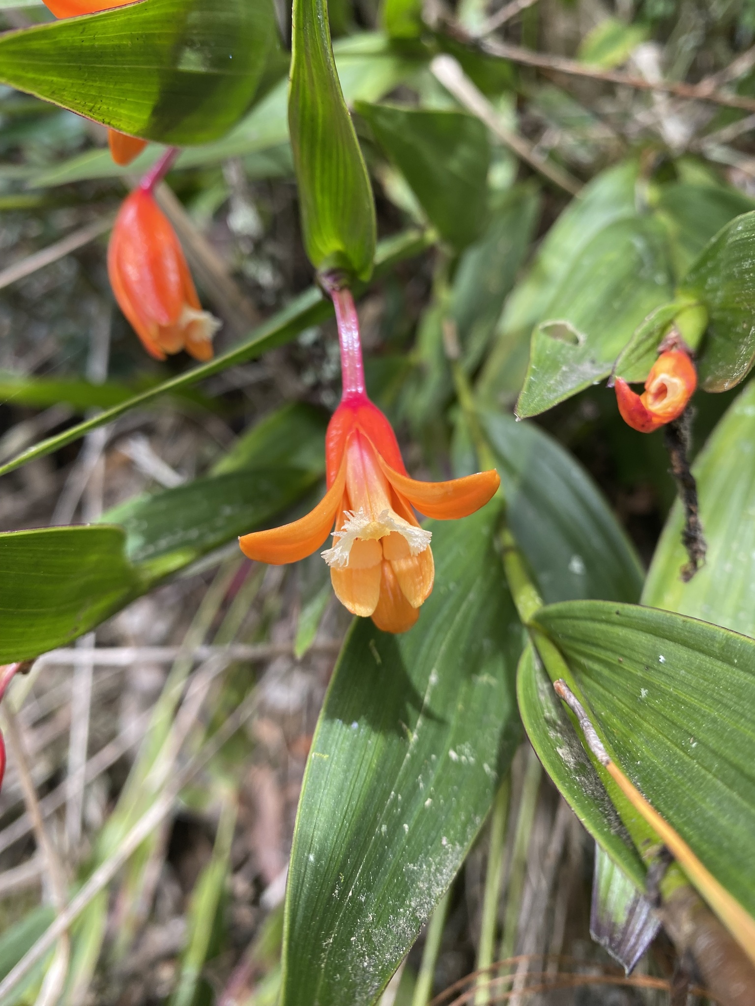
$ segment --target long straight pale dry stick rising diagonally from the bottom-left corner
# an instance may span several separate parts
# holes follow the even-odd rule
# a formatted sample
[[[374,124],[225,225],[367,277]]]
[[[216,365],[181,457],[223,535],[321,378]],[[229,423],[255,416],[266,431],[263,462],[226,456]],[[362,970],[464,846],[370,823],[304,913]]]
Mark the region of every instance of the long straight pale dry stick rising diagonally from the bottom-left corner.
[[[283,675],[281,675],[283,677]],[[184,786],[206,765],[225,741],[252,716],[260,701],[255,691],[234,712],[212,738],[192,758],[186,767],[177,773],[172,785],[158,797],[147,813],[137,821],[121,842],[118,851],[99,866],[79,893],[68,902],[64,910],[45,930],[34,946],[27,951],[16,966],[8,972],[0,982],[0,1002],[3,996],[15,988],[31,968],[49,951],[61,934],[65,933],[71,923],[79,917],[90,901],[96,897],[108,884],[121,867],[128,861],[132,853],[142,844],[149,834],[170,813],[176,797]]]

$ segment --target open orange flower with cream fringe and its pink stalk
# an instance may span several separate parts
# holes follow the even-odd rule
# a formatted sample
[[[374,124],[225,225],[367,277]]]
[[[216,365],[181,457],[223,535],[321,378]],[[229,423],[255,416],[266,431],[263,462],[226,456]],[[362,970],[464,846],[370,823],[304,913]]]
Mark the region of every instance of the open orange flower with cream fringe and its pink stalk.
[[[305,517],[239,539],[251,559],[280,565],[320,548],[338,600],[379,629],[402,633],[419,618],[433,589],[431,532],[413,507],[437,520],[466,517],[495,494],[494,470],[450,482],[407,474],[391,424],[366,395],[358,328],[347,290],[332,292],[341,344],[343,396],[325,439],[327,492]]]

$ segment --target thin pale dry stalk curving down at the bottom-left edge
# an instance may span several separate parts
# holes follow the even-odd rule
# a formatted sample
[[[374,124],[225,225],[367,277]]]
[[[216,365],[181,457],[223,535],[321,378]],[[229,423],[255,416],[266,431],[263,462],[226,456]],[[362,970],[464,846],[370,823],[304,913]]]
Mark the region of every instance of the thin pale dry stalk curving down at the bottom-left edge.
[[[67,894],[65,874],[52,840],[47,834],[47,829],[44,827],[44,821],[39,810],[39,801],[37,800],[36,790],[31,779],[31,772],[21,738],[21,730],[10,705],[6,705],[3,710],[3,718],[5,720],[5,735],[8,738],[8,747],[16,763],[16,771],[23,791],[26,813],[31,818],[34,837],[44,859],[45,871],[49,880],[50,899],[55,910],[61,912],[65,906],[65,897]],[[69,960],[70,941],[66,926],[58,934],[57,950],[44,976],[42,987],[37,996],[36,1006],[51,1006],[51,1004],[57,1001],[65,983]]]

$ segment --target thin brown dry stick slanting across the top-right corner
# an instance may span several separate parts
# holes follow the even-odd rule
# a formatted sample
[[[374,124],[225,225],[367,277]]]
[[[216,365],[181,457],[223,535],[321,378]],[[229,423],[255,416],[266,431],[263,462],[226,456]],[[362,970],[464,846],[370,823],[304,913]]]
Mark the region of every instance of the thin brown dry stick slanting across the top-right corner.
[[[466,36],[468,39],[468,36]],[[491,56],[510,59],[511,62],[523,66],[535,66],[537,69],[551,70],[557,73],[568,73],[570,76],[584,76],[591,80],[603,80],[606,83],[618,83],[634,91],[655,91],[666,95],[675,95],[695,102],[710,102],[712,105],[723,105],[730,109],[742,109],[745,112],[755,112],[755,99],[744,98],[741,95],[726,95],[720,91],[710,91],[703,83],[682,83],[673,80],[645,80],[641,76],[623,73],[620,70],[596,69],[576,59],[564,56],[550,55],[547,52],[535,52],[519,45],[486,39],[478,43]]]

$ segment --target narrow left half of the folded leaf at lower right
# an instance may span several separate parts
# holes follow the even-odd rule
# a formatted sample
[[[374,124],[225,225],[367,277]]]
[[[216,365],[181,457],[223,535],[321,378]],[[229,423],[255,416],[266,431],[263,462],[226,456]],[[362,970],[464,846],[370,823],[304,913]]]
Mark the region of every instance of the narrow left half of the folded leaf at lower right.
[[[642,860],[532,645],[519,661],[516,699],[526,735],[559,792],[599,848],[644,890]]]

